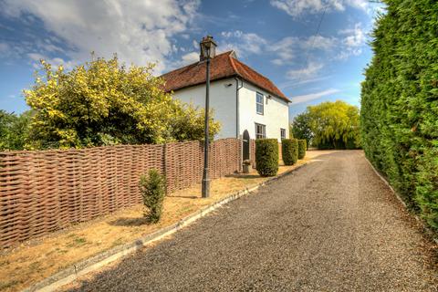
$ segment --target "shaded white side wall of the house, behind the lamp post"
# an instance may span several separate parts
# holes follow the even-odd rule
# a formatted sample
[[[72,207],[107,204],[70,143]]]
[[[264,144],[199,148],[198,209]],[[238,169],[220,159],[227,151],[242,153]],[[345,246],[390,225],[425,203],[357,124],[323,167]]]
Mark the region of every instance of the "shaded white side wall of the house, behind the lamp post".
[[[229,86],[231,84],[231,86]],[[214,139],[236,137],[236,99],[234,78],[210,83],[210,108],[214,109],[214,120],[221,123],[221,131]],[[194,106],[205,107],[205,84],[173,93],[173,97]]]

